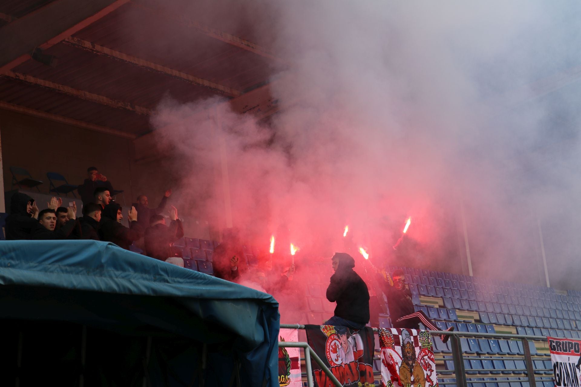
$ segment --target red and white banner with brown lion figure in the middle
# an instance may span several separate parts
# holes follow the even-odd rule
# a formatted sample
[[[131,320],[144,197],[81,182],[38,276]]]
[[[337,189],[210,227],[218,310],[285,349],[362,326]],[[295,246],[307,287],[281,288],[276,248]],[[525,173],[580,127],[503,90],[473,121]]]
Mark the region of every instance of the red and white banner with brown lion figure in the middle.
[[[428,331],[379,328],[383,387],[437,386],[436,363]]]

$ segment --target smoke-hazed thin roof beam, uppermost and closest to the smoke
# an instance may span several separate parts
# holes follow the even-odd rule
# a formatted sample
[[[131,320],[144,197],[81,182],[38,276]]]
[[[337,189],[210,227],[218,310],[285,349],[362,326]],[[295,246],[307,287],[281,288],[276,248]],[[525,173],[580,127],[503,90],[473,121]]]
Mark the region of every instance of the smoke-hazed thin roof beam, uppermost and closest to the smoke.
[[[165,12],[162,9],[152,8],[141,3],[137,3],[135,1],[132,1],[131,5],[137,6],[140,9],[153,13],[156,16],[162,16],[164,17],[164,19],[173,20],[184,26],[188,26],[192,28],[192,30],[199,32],[200,34],[206,35],[207,37],[218,39],[219,41],[223,41],[224,43],[227,43],[229,45],[236,46],[238,48],[242,48],[244,50],[253,52],[257,55],[274,60],[275,62],[286,63],[284,59],[277,57],[274,54],[274,52],[267,48],[261,47],[245,39],[235,37],[234,35],[227,34],[226,32],[216,30],[215,28],[211,28],[209,26],[206,26],[205,24],[198,23],[198,21],[192,20],[185,15],[173,15],[168,12]]]

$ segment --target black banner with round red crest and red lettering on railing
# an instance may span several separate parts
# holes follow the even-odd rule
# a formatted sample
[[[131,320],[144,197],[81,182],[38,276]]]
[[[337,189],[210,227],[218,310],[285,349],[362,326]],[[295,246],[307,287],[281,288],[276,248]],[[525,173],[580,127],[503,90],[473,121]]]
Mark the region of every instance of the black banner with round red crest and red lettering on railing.
[[[371,328],[354,330],[333,325],[306,325],[307,342],[343,386],[372,386],[374,335]],[[334,387],[314,361],[317,387]]]

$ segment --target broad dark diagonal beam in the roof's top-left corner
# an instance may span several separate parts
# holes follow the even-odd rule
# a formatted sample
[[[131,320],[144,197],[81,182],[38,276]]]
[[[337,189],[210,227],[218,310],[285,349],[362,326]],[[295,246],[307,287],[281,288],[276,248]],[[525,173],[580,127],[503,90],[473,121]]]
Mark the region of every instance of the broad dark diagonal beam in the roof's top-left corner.
[[[113,12],[129,0],[56,0],[0,28],[0,74]]]

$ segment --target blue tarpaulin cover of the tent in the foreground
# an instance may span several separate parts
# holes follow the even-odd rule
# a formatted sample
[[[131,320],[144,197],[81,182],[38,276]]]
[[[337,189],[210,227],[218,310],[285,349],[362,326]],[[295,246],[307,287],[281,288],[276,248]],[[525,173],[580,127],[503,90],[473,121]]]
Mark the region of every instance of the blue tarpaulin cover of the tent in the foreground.
[[[206,385],[229,385],[239,372],[243,386],[278,386],[278,303],[263,292],[88,240],[0,241],[0,284],[4,321],[205,343]],[[153,351],[149,378],[191,385],[200,352],[188,360],[183,346],[179,356],[163,351]]]

